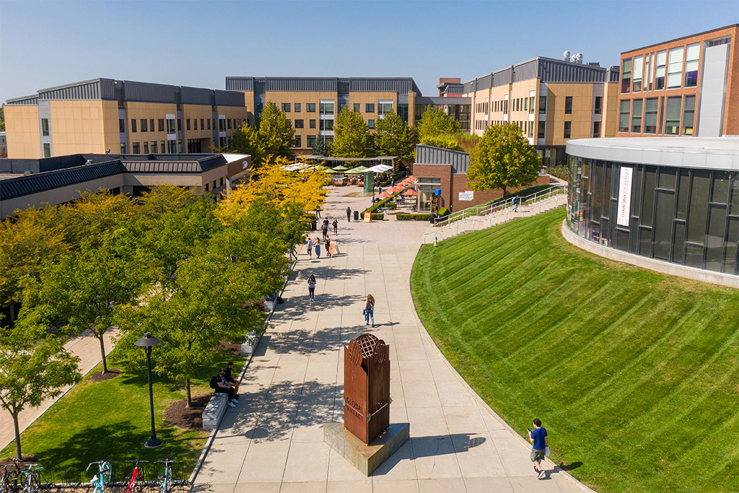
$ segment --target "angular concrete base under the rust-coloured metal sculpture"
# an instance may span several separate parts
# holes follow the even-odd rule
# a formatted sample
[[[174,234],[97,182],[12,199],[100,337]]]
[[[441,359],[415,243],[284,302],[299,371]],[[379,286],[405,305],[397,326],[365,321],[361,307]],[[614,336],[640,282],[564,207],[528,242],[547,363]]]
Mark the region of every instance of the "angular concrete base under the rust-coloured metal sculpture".
[[[365,445],[344,428],[343,423],[327,423],[324,424],[324,442],[352,463],[362,474],[369,476],[381,463],[400,449],[403,443],[408,441],[409,432],[408,423],[393,423],[372,443]]]

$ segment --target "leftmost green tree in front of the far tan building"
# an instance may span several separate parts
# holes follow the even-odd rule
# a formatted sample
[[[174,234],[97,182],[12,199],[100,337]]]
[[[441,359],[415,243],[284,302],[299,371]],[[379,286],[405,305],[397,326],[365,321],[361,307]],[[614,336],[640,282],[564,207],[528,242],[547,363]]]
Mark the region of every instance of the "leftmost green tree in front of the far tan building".
[[[231,137],[234,152],[251,154],[251,165],[259,168],[268,156],[292,157],[290,150],[295,142],[295,130],[285,112],[268,101],[265,110],[259,115],[258,126],[244,123]]]

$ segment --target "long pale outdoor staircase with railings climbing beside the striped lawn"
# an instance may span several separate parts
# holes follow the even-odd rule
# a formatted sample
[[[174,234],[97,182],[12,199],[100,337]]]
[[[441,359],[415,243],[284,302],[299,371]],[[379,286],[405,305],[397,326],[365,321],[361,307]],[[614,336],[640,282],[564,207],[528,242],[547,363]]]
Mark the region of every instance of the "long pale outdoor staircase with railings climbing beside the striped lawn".
[[[437,222],[423,234],[423,243],[433,243],[454,238],[460,234],[492,228],[520,217],[531,217],[567,205],[567,186],[556,186],[545,191],[521,197],[521,204],[514,212],[511,199],[488,205],[486,208],[470,208],[456,217]],[[470,211],[473,210],[473,211]],[[468,212],[469,211],[469,212]]]

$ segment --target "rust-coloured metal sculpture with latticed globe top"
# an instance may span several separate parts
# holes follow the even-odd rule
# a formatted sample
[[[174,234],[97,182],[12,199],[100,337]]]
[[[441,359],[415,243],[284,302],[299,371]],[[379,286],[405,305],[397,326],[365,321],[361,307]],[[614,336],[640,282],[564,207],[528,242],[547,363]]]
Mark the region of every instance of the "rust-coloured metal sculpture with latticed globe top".
[[[366,445],[390,426],[389,346],[362,334],[344,347],[344,428]]]

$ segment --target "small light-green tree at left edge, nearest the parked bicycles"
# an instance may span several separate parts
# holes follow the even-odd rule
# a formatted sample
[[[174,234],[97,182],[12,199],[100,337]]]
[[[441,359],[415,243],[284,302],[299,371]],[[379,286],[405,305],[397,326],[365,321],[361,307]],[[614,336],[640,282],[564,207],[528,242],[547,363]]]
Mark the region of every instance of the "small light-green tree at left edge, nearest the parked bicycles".
[[[18,414],[82,378],[79,358],[64,350],[64,338],[47,333],[44,308],[25,305],[13,327],[0,327],[0,406],[13,418],[18,460],[23,460]]]

